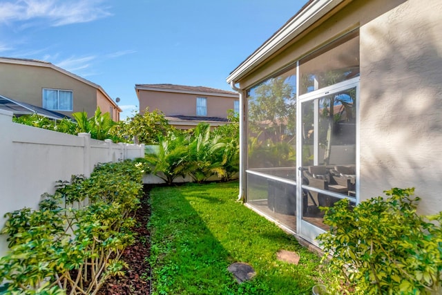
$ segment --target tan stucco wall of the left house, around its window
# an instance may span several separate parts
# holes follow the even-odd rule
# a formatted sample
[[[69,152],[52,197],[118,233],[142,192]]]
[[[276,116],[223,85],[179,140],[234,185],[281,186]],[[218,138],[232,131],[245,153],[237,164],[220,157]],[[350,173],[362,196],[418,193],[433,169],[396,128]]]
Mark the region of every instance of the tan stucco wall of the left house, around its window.
[[[52,68],[0,62],[0,94],[42,106],[42,89],[53,88],[73,91],[73,112],[86,111],[91,115],[97,109],[96,88]]]

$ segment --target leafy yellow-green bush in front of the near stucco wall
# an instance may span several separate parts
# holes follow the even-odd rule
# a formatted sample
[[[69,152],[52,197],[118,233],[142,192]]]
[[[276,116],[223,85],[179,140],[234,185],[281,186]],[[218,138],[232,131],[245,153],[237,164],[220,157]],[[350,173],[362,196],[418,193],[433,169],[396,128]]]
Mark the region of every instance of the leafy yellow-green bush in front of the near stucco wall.
[[[330,231],[318,236],[331,289],[347,294],[441,294],[442,212],[419,216],[414,189],[385,191],[356,207],[340,200],[325,208]]]

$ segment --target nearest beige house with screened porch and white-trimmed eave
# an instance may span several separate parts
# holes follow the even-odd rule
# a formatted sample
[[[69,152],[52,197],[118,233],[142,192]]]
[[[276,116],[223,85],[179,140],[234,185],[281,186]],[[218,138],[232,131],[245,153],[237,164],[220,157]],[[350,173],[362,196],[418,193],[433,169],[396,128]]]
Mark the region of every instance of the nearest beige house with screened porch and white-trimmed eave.
[[[342,198],[415,187],[420,214],[442,211],[441,15],[440,0],[308,1],[227,77],[240,198],[315,245],[318,207]]]

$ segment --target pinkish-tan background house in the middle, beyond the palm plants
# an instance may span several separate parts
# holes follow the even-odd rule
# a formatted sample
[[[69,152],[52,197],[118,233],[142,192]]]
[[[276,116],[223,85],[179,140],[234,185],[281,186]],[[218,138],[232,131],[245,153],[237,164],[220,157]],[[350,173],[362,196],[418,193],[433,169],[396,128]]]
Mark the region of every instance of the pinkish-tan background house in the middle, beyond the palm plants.
[[[200,122],[227,124],[227,111],[239,112],[239,95],[202,86],[136,84],[140,113],[159,110],[177,129],[190,129]]]

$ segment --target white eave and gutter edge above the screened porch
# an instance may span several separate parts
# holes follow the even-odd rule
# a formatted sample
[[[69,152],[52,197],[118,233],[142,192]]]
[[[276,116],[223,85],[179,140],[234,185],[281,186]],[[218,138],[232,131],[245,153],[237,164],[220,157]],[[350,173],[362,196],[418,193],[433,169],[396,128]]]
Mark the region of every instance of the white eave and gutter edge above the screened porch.
[[[265,61],[300,35],[304,30],[332,11],[340,3],[346,0],[313,0],[309,1],[294,17],[282,28],[273,34],[264,44],[252,53],[227,77],[229,84],[236,84],[242,77],[250,73],[254,68]]]

